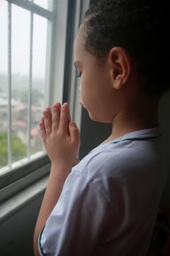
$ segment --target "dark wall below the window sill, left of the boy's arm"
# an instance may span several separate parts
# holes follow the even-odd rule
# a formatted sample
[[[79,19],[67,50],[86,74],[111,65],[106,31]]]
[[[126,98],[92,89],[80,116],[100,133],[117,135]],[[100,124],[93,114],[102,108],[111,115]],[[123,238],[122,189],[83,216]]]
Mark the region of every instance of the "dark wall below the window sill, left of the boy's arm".
[[[34,228],[42,195],[0,223],[0,256],[34,256]]]

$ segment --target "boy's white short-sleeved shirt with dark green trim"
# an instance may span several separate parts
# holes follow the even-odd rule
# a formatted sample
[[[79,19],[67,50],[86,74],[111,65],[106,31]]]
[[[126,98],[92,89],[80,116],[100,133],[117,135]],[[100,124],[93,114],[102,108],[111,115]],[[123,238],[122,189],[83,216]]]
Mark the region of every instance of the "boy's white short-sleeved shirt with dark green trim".
[[[143,256],[166,180],[160,132],[103,143],[72,168],[39,236],[40,255]]]

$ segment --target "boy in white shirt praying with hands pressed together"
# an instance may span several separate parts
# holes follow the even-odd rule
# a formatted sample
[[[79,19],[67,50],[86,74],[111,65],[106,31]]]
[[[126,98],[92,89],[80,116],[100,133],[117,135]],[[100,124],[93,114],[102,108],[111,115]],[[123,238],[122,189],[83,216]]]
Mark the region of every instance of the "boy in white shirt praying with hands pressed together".
[[[80,102],[93,121],[112,123],[112,133],[77,163],[69,105],[43,112],[52,165],[36,255],[146,255],[166,179],[157,120],[169,89],[166,4],[104,0],[86,12],[74,43]]]

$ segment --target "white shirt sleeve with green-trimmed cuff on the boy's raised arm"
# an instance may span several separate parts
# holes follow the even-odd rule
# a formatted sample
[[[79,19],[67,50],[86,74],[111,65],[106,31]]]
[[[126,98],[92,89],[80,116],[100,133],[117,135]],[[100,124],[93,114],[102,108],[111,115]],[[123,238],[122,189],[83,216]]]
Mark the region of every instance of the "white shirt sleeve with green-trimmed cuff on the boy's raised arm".
[[[72,171],[39,236],[41,255],[90,255],[111,211],[93,182]]]

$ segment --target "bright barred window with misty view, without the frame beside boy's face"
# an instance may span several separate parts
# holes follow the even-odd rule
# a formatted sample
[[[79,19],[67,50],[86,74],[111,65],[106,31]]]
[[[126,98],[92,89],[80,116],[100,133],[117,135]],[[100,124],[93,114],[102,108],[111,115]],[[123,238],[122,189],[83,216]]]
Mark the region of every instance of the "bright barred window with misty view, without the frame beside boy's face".
[[[54,12],[52,0],[0,1],[1,189],[48,161],[38,123],[42,109],[50,105]]]

